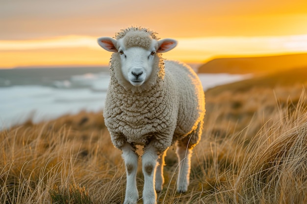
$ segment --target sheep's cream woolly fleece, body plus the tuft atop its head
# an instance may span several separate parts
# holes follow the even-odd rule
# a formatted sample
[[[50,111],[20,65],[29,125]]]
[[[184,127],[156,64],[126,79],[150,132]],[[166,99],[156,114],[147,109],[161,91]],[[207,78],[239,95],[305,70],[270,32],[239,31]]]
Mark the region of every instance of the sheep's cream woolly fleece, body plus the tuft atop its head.
[[[133,27],[118,33],[117,39],[121,38],[127,46],[143,48],[158,39],[148,29]],[[162,153],[179,140],[179,145],[193,148],[202,135],[205,95],[192,68],[164,61],[156,53],[150,79],[134,87],[125,80],[120,66],[119,53],[113,53],[103,116],[114,146],[121,149],[126,142],[152,142]]]

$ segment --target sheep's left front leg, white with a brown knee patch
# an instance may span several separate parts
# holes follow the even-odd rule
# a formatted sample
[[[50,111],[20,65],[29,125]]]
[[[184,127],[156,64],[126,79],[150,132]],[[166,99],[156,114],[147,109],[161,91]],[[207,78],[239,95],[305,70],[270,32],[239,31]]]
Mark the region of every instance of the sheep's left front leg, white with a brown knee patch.
[[[136,171],[138,156],[135,153],[135,149],[126,143],[122,147],[123,159],[125,160],[126,172],[127,172],[127,186],[126,196],[124,204],[136,204],[139,198],[137,187],[136,187]]]

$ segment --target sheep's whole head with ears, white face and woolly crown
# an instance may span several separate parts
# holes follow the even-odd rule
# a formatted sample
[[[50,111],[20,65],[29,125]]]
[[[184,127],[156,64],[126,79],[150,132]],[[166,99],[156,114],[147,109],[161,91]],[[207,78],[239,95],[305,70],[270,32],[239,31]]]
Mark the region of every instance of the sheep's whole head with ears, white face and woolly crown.
[[[102,37],[98,44],[107,51],[119,55],[121,72],[133,86],[146,83],[154,72],[160,55],[177,45],[173,39],[158,40],[153,32],[146,29],[130,29],[119,33],[117,39]],[[157,72],[156,72],[157,73]]]

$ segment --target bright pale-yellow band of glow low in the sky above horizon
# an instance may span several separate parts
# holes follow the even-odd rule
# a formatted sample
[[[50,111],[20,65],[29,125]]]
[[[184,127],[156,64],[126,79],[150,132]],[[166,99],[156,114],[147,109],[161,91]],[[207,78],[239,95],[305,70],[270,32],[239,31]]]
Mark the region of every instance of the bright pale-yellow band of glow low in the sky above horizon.
[[[179,38],[166,59],[204,62],[216,56],[253,56],[307,52],[307,35],[275,37]],[[0,68],[19,66],[107,65],[110,52],[91,36],[46,40],[0,41]]]

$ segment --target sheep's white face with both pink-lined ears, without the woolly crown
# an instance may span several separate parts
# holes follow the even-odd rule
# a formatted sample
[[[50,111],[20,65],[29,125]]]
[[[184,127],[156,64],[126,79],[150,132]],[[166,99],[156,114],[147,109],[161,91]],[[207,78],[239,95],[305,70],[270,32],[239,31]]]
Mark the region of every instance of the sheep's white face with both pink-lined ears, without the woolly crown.
[[[173,39],[156,41],[151,39],[147,46],[127,45],[127,40],[121,38],[114,40],[108,37],[98,39],[99,45],[107,51],[118,52],[121,59],[121,70],[125,79],[133,86],[144,84],[151,76],[156,53],[173,49],[177,42]],[[138,42],[136,42],[137,44]]]

